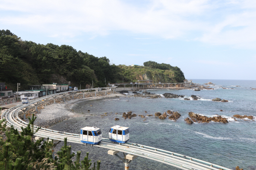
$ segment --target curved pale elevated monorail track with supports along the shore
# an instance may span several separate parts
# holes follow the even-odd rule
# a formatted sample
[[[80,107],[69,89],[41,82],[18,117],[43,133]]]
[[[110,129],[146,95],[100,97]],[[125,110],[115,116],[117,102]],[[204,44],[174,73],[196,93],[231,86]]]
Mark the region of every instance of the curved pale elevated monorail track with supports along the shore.
[[[69,91],[69,92],[51,94],[48,96],[36,98],[34,100],[31,100],[29,104],[21,104],[8,109],[1,115],[1,119],[6,119],[8,127],[13,126],[18,131],[22,131],[21,127],[26,127],[28,123],[26,123],[25,121],[19,118],[18,115],[21,109],[23,108],[29,109],[29,107],[34,107],[35,104],[41,102],[42,100],[46,101],[47,99],[54,98],[60,94],[63,94],[63,97],[64,97],[64,95],[68,93],[75,93],[79,91],[84,92],[85,90],[97,90],[97,89],[98,88]],[[35,126],[35,128],[37,128],[37,126]],[[54,131],[47,128],[41,128],[35,134],[35,136],[37,136],[36,137],[37,139],[49,138],[49,139],[52,139],[53,142],[57,142],[57,143],[59,141],[63,141],[64,138],[67,138],[67,142],[84,144],[80,142],[80,134]],[[151,159],[151,160],[161,162],[161,163],[164,163],[173,167],[177,167],[183,170],[218,170],[218,169],[231,170],[219,165],[215,165],[210,162],[202,161],[202,160],[185,156],[182,154],[177,154],[172,151],[166,151],[166,150],[162,150],[162,149],[158,149],[150,146],[145,146],[143,144],[136,144],[131,142],[127,142],[125,144],[119,144],[119,143],[110,142],[110,140],[107,138],[102,138],[102,142],[100,144],[93,145],[93,146],[108,149],[109,150],[108,154],[115,155],[125,163],[125,170],[129,169],[129,163],[136,157]],[[122,158],[120,155],[117,155],[118,152],[123,152],[124,158]],[[54,152],[53,152],[53,157],[54,157]]]

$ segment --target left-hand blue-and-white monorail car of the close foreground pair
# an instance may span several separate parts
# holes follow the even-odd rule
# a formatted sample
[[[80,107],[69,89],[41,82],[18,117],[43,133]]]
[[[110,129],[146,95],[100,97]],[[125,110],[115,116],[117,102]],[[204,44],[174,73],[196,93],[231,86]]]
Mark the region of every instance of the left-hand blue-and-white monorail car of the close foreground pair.
[[[101,129],[97,127],[84,127],[80,132],[80,140],[82,143],[98,144],[101,142]]]

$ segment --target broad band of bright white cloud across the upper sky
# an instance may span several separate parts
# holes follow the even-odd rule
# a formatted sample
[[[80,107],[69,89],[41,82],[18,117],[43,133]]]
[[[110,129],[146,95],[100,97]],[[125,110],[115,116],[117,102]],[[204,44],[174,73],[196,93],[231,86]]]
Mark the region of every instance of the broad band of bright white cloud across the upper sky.
[[[256,1],[152,0],[1,1],[1,25],[36,30],[61,39],[114,31],[164,39],[196,40],[214,45],[255,48]],[[10,14],[12,13],[12,14]],[[138,38],[140,39],[140,38]]]

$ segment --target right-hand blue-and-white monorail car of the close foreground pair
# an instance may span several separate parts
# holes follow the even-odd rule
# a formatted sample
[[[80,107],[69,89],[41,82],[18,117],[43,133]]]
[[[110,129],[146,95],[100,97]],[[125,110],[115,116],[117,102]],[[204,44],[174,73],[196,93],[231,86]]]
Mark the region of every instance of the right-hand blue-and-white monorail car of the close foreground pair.
[[[112,142],[125,143],[130,139],[129,128],[115,125],[109,130],[109,140]]]

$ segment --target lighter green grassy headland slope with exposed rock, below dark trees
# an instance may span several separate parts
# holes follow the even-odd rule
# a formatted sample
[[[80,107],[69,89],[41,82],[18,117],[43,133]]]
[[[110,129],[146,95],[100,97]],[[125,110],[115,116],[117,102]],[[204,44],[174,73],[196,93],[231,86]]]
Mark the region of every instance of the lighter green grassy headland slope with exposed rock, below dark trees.
[[[151,69],[143,66],[118,66],[118,69],[119,77],[123,77],[125,82],[137,80],[153,80],[154,83],[178,82],[173,70]]]

